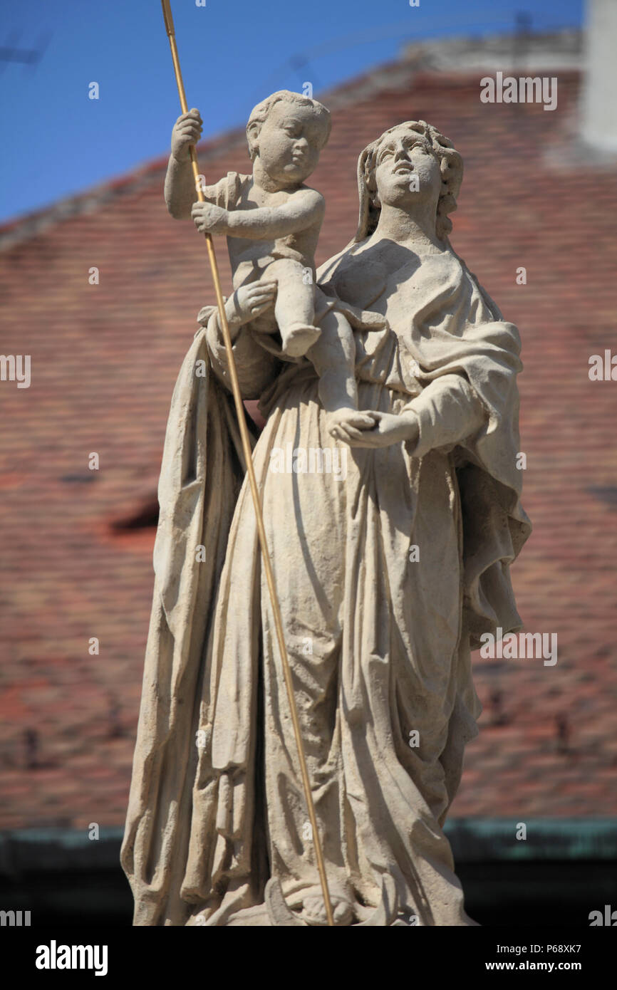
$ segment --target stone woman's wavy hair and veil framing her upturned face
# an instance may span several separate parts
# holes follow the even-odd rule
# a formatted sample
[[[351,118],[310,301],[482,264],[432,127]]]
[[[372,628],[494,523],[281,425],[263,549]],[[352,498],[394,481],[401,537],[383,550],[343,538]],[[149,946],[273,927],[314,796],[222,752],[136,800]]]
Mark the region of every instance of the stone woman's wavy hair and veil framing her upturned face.
[[[358,192],[360,197],[360,216],[358,231],[352,244],[357,244],[374,232],[381,205],[376,199],[377,186],[375,183],[375,168],[377,154],[381,144],[394,131],[407,128],[414,131],[426,143],[427,149],[435,155],[440,163],[442,172],[442,191],[437,204],[435,231],[440,241],[448,237],[452,231],[452,220],[448,216],[457,209],[457,196],[463,182],[463,158],[452,141],[444,137],[437,128],[426,121],[405,121],[396,127],[384,131],[380,138],[371,142],[361,152],[358,159]]]

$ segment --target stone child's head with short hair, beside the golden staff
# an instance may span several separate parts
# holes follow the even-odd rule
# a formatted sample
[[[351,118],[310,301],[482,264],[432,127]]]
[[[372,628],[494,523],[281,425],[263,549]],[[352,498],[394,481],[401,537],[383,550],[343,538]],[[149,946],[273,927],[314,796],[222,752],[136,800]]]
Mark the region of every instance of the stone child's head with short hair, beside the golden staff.
[[[331,127],[323,103],[281,89],[258,103],[249,118],[251,160],[258,156],[270,178],[283,185],[303,182],[317,165]]]

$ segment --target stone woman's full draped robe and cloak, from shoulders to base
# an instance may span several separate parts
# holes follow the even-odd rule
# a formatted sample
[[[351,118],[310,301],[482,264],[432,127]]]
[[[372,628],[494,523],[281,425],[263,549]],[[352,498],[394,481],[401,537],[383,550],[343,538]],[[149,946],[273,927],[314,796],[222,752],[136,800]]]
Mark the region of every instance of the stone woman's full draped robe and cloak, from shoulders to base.
[[[358,301],[356,250],[319,273],[335,308]],[[407,254],[373,268],[362,305],[387,325],[356,332],[356,374],[359,408],[413,409],[417,443],[334,442],[309,360],[285,364],[250,325],[234,349],[266,417],[253,457],[333,895],[360,921],[387,874],[418,924],[468,925],[443,825],[477,734],[470,648],[521,625],[520,344],[450,246]],[[296,910],[319,889],[228,382],[213,312],[176,383],[159,483],[122,849],[136,925],[266,925],[268,877]],[[335,446],[345,472],[274,468]]]

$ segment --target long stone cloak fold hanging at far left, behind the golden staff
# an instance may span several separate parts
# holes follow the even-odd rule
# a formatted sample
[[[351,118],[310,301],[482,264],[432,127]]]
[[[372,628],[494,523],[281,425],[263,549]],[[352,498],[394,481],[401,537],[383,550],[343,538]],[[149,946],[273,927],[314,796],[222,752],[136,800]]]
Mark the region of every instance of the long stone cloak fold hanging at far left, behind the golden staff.
[[[200,661],[243,477],[232,399],[212,374],[202,330],[173,390],[158,485],[153,608],[121,851],[136,925],[183,925],[188,916],[180,885],[200,743]]]

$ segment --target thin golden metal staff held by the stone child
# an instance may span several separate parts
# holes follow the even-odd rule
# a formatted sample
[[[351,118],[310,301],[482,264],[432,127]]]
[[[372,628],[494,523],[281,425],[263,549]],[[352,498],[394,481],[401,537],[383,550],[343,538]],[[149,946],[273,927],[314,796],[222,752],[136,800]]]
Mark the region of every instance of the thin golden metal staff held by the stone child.
[[[186,102],[186,94],[184,92],[184,83],[182,82],[182,73],[180,71],[178,49],[175,44],[173,19],[171,17],[171,5],[169,3],[169,0],[161,0],[161,4],[162,4],[162,16],[165,21],[165,30],[167,32],[167,38],[169,39],[169,47],[171,49],[171,57],[173,59],[173,71],[175,72],[175,81],[178,87],[180,106],[182,108],[182,113],[185,114],[188,112],[188,104]],[[197,191],[197,198],[199,199],[200,203],[205,203],[206,197],[204,196],[203,188],[201,186],[199,165],[197,164],[197,151],[195,150],[194,145],[189,145],[188,150],[191,158],[193,175],[195,177],[195,188]],[[321,888],[323,891],[324,902],[326,905],[326,917],[328,919],[328,925],[334,926],[334,916],[332,913],[330,891],[328,889],[328,879],[326,877],[326,867],[324,865],[324,855],[322,852],[321,841],[317,829],[317,818],[315,816],[315,805],[313,804],[313,795],[311,793],[311,782],[308,775],[308,768],[306,765],[306,755],[304,753],[304,743],[302,743],[302,735],[300,733],[300,722],[298,720],[298,712],[296,709],[296,703],[293,694],[291,669],[289,667],[287,647],[285,646],[285,638],[283,636],[283,624],[280,616],[280,606],[278,604],[278,598],[276,597],[276,589],[274,587],[274,575],[272,574],[272,564],[270,561],[270,556],[267,550],[267,543],[265,540],[265,529],[263,527],[263,517],[261,515],[261,504],[259,502],[259,493],[257,491],[257,480],[255,476],[255,468],[253,466],[253,454],[251,450],[251,444],[249,442],[249,431],[247,429],[247,423],[245,420],[245,407],[243,405],[242,393],[240,391],[240,383],[238,381],[238,372],[236,370],[236,359],[234,357],[234,350],[232,347],[232,338],[229,332],[229,324],[227,322],[227,314],[225,312],[225,303],[223,301],[223,293],[221,291],[219,266],[217,264],[216,254],[214,253],[214,244],[212,242],[212,235],[209,232],[206,232],[205,238],[206,238],[206,247],[208,248],[208,258],[210,260],[210,269],[212,271],[212,281],[214,282],[214,291],[216,294],[216,301],[219,310],[219,323],[221,324],[223,341],[225,342],[225,349],[227,351],[229,373],[230,373],[230,378],[232,380],[232,391],[234,393],[234,400],[236,402],[236,412],[238,414],[238,426],[240,427],[242,447],[244,450],[245,461],[247,464],[247,473],[249,475],[251,493],[253,495],[253,504],[255,506],[255,515],[257,519],[257,535],[259,538],[261,558],[263,560],[263,567],[265,570],[265,580],[267,582],[267,587],[270,595],[270,602],[272,605],[272,612],[274,614],[274,628],[276,630],[276,640],[278,641],[278,648],[280,650],[280,657],[283,665],[283,676],[285,678],[287,697],[289,699],[289,708],[291,710],[291,722],[293,724],[293,734],[295,736],[296,746],[298,749],[298,759],[300,761],[300,773],[302,776],[302,785],[304,787],[304,796],[306,798],[309,820],[311,823],[311,828],[313,830],[313,841],[315,843],[315,856],[317,858],[319,879],[321,881]]]

